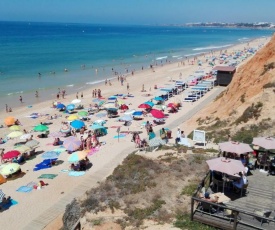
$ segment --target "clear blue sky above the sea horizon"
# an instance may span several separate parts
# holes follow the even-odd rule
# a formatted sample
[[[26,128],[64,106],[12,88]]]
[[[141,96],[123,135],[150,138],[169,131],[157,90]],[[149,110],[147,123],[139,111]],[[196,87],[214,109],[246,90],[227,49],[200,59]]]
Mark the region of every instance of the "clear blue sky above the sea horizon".
[[[0,20],[102,24],[275,22],[274,9],[274,0],[0,0]]]

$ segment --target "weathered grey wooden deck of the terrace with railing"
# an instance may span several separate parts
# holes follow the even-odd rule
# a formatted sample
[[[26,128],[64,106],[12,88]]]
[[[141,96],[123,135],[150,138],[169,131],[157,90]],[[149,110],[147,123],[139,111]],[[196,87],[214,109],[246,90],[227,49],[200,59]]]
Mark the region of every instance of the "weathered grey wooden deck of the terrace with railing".
[[[267,176],[259,169],[252,171],[248,176],[249,186],[247,193],[242,197],[235,194],[231,189],[225,190],[225,195],[231,198],[231,201],[225,206],[215,207],[218,212],[210,214],[199,210],[198,202],[194,201],[193,220],[220,229],[275,229],[275,176]],[[216,191],[215,191],[216,192]],[[192,198],[193,199],[193,198]],[[198,207],[197,207],[198,206]],[[238,211],[238,218],[234,226],[234,218],[228,218],[223,215],[224,209]],[[261,223],[255,219],[254,210],[272,211],[268,220]]]

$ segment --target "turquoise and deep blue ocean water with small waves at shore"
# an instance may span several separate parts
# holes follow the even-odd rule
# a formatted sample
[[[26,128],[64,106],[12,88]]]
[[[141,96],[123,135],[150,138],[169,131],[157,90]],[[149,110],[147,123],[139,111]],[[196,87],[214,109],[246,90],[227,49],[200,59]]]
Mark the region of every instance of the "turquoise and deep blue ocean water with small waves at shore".
[[[271,36],[270,30],[0,22],[0,109],[20,95],[81,91],[114,77]],[[68,71],[65,72],[64,70]]]

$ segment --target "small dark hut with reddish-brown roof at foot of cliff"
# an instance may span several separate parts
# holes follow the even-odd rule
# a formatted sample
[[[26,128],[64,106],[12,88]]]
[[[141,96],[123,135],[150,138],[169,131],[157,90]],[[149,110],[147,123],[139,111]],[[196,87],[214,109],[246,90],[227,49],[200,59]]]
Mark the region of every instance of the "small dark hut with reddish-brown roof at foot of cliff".
[[[228,86],[236,72],[236,67],[216,66],[213,70],[217,71],[217,85]]]

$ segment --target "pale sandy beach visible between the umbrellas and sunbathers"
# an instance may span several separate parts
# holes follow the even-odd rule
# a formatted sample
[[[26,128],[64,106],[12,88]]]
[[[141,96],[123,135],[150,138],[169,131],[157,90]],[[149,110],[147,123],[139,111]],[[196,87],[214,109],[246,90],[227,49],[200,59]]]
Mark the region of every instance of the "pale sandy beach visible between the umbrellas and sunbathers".
[[[266,44],[269,39],[261,38],[251,41],[249,46],[247,43],[238,44],[236,46],[230,47],[227,49],[227,53],[231,53],[237,50],[244,50],[244,48],[252,47],[257,48],[260,45]],[[219,56],[220,51],[215,51],[214,55]],[[189,75],[194,73],[196,70],[201,69],[209,72],[212,67],[206,63],[205,59],[208,54],[202,55],[197,57],[198,60],[202,61],[202,66],[198,66],[197,64],[191,65],[188,64],[186,60],[184,61],[184,65],[182,63],[171,63],[166,64],[164,66],[158,66],[152,69],[144,69],[143,71],[135,72],[134,75],[129,75],[126,78],[126,82],[124,85],[121,86],[120,82],[116,79],[112,80],[112,85],[105,85],[104,83],[100,85],[96,85],[93,88],[86,89],[83,91],[84,97],[81,101],[81,104],[84,105],[85,108],[88,108],[90,104],[92,104],[92,90],[95,88],[100,88],[102,92],[102,96],[104,98],[108,98],[111,95],[115,94],[127,94],[130,93],[134,95],[134,97],[129,97],[124,100],[125,104],[129,106],[130,109],[137,109],[138,105],[152,99],[156,91],[154,89],[155,85],[159,87],[165,87],[169,84],[174,84],[174,80],[184,80]],[[190,59],[191,60],[191,59]],[[246,59],[247,60],[247,59]],[[245,61],[246,61],[245,60]],[[244,61],[244,62],[245,62]],[[218,61],[215,63],[219,65]],[[180,79],[181,76],[181,79]],[[127,83],[129,84],[129,91],[127,90]],[[146,92],[141,92],[142,85],[144,84],[144,88]],[[178,123],[180,124],[180,128],[184,130],[184,132],[189,134],[195,127],[186,126],[185,123],[182,123],[183,117],[192,109],[196,108],[198,105],[201,105],[202,101],[205,101],[204,106],[207,105],[212,100],[211,95],[215,95],[218,91],[223,90],[225,88],[216,87],[208,92],[202,99],[190,103],[190,102],[183,102],[182,108],[179,110],[178,113],[170,114],[169,117],[166,119],[166,123],[164,125],[154,126],[154,131],[159,133],[159,130],[162,127],[167,127],[172,130],[172,139],[170,139],[170,143],[174,143],[176,128]],[[185,94],[183,92],[180,95],[176,95],[170,98],[166,104],[169,102],[174,101],[181,101],[182,96]],[[76,95],[66,95],[65,99],[59,99],[59,102],[67,105],[76,98]],[[211,99],[211,100],[210,100]],[[61,122],[66,121],[65,116],[67,114],[60,113],[58,110],[52,108],[53,98],[49,98],[47,101],[43,101],[37,104],[33,104],[32,107],[28,107],[28,102],[26,101],[23,106],[14,108],[13,112],[6,113],[2,111],[0,113],[1,120],[3,120],[7,116],[13,116],[16,119],[19,119],[22,124],[22,130],[26,129],[27,131],[31,131],[33,127],[39,124],[42,119],[32,119],[29,116],[32,113],[39,113],[39,114],[50,114],[50,115],[61,115],[57,119],[50,120],[48,122],[52,122],[49,125],[50,132],[59,131],[61,128]],[[199,108],[199,107],[198,107]],[[167,111],[165,112],[167,113]],[[123,115],[120,113],[119,115]],[[92,116],[91,120],[86,123],[86,126],[89,125],[99,118],[96,116]],[[54,166],[49,169],[44,169],[40,171],[33,171],[33,168],[36,164],[42,161],[41,156],[38,154],[32,160],[27,161],[21,166],[22,172],[26,174],[22,178],[18,178],[15,180],[8,181],[7,183],[1,184],[0,189],[11,196],[14,200],[18,202],[17,205],[10,207],[8,210],[1,212],[0,218],[0,226],[3,226],[3,229],[23,229],[26,226],[31,226],[33,223],[32,221],[38,218],[39,216],[43,215],[47,210],[57,204],[62,198],[64,197],[77,197],[81,195],[82,190],[85,191],[88,188],[94,187],[97,185],[98,181],[104,180],[106,176],[108,176],[113,169],[123,160],[127,154],[131,153],[135,150],[134,143],[131,142],[132,135],[126,135],[125,137],[115,139],[114,136],[117,135],[117,127],[121,126],[121,131],[142,131],[141,138],[147,138],[146,130],[142,126],[142,122],[144,121],[152,121],[153,117],[145,117],[142,121],[133,121],[131,126],[125,127],[123,126],[122,122],[116,121],[115,118],[107,118],[103,117],[102,119],[106,119],[107,123],[105,124],[108,127],[108,134],[106,136],[100,137],[100,142],[106,142],[105,145],[102,145],[99,148],[99,151],[94,153],[93,155],[89,156],[90,161],[92,162],[93,166],[91,169],[86,171],[85,175],[80,177],[70,177],[68,173],[62,172],[61,170],[68,170],[69,169],[69,162],[67,161],[68,153],[63,152],[61,153],[59,160],[63,161],[63,163]],[[47,122],[47,120],[43,120],[43,122]],[[7,127],[3,127],[0,129],[0,137],[4,137],[5,135],[9,134],[11,131]],[[39,133],[33,132],[34,139],[40,142],[38,148],[36,149],[37,152],[42,153],[44,151],[53,150],[55,146],[52,145],[54,138],[37,138]],[[80,134],[77,134],[77,137],[80,138]],[[61,138],[64,140],[64,138]],[[7,143],[0,145],[0,148],[4,148],[5,152],[12,150],[13,145],[16,142],[20,142],[19,138],[11,139]],[[17,192],[16,190],[23,185],[27,185],[30,182],[38,182],[38,177],[41,174],[50,173],[50,174],[57,174],[58,176],[52,180],[45,179],[44,181],[49,183],[48,186],[44,187],[41,190],[32,190],[29,193],[22,193]],[[89,180],[89,185],[87,185],[87,180]],[[83,188],[84,182],[87,185],[87,188]],[[79,193],[76,193],[78,186],[82,186]],[[68,200],[68,203],[70,200]],[[60,210],[58,210],[59,215],[62,214],[64,211],[64,207],[66,204],[63,204],[63,208],[60,206]],[[49,217],[49,222],[57,218],[58,215],[53,215]],[[16,221],[14,221],[16,220]],[[39,225],[37,225],[39,226]],[[46,226],[46,225],[45,225]],[[33,229],[41,229],[39,227],[33,226]]]

